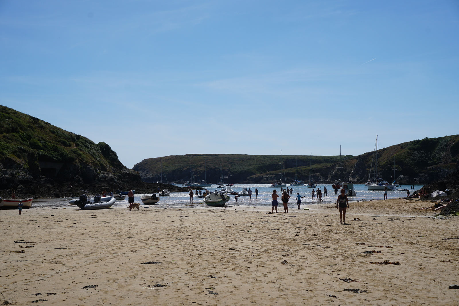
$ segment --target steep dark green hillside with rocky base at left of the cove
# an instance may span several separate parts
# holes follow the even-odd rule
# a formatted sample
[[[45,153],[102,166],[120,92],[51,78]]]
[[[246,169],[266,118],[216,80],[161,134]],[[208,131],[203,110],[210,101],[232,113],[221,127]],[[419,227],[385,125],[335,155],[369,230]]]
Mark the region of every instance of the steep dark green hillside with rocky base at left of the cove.
[[[78,196],[81,189],[150,189],[104,142],[0,106],[0,196]],[[169,188],[171,189],[171,188]]]

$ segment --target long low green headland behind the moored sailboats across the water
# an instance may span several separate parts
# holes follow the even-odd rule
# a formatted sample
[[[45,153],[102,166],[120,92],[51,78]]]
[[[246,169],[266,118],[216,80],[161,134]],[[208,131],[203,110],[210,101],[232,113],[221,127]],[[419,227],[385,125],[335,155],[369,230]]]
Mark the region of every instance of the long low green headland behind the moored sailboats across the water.
[[[359,156],[313,156],[312,179],[314,182],[330,183],[344,179],[354,183],[368,180],[373,152]],[[387,181],[395,178],[402,184],[427,184],[445,178],[458,169],[459,135],[425,138],[392,145],[377,151],[378,173]],[[283,156],[285,176],[290,183],[295,179],[309,179],[309,156]],[[280,156],[237,154],[187,154],[147,158],[134,166],[143,181],[156,182],[163,173],[169,181],[190,180],[190,168],[195,180],[207,182],[220,180],[220,167],[225,183],[272,183],[280,178]],[[341,169],[341,173],[340,173]],[[163,177],[163,180],[165,178]]]

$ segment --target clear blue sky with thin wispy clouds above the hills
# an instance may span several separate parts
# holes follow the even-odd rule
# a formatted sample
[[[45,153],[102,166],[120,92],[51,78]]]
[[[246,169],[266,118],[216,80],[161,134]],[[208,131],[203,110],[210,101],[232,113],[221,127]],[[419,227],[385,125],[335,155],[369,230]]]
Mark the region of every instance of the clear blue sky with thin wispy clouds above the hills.
[[[0,104],[127,167],[458,134],[458,1],[1,1]]]

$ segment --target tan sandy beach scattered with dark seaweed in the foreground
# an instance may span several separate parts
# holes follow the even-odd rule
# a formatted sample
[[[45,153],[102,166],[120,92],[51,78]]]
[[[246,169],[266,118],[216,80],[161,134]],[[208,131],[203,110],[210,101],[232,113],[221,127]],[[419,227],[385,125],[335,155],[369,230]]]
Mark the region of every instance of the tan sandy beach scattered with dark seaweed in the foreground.
[[[459,217],[428,204],[351,203],[348,225],[330,204],[0,211],[0,288],[12,305],[458,305]]]

